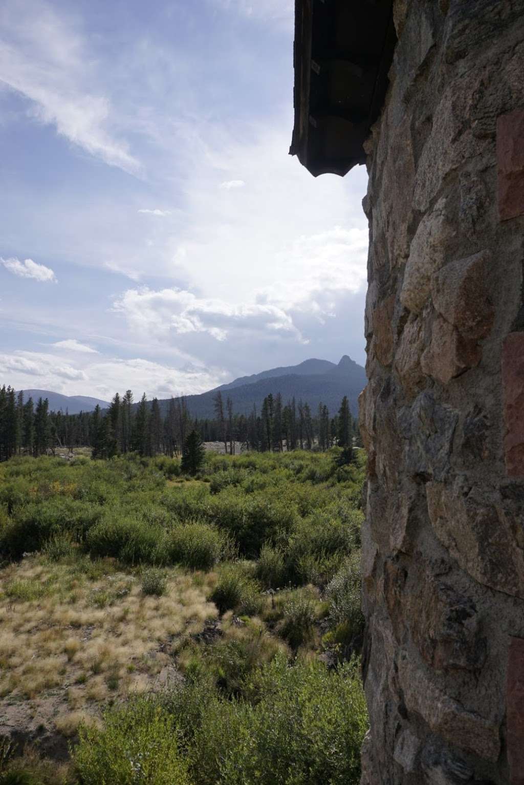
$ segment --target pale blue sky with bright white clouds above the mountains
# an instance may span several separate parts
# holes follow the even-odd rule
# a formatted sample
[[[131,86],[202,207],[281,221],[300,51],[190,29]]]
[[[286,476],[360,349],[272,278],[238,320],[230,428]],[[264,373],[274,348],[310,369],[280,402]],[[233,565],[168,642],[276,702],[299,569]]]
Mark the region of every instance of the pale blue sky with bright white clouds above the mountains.
[[[364,167],[288,155],[290,0],[3,0],[0,383],[107,399],[365,360]]]

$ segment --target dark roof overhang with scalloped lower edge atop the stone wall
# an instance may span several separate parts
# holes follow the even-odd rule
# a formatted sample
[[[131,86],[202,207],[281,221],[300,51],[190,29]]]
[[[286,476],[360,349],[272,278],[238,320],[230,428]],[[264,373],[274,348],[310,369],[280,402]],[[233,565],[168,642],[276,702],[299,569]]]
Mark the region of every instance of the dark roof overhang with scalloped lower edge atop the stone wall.
[[[315,177],[366,161],[388,88],[392,0],[295,0],[295,126],[289,152]]]

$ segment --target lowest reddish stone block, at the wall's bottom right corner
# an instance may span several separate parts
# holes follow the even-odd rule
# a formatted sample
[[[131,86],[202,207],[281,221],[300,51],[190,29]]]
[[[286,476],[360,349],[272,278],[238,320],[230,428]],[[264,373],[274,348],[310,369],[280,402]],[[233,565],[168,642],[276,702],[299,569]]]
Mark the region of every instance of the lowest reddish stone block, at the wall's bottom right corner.
[[[506,683],[508,763],[511,785],[524,785],[524,640],[511,638]]]

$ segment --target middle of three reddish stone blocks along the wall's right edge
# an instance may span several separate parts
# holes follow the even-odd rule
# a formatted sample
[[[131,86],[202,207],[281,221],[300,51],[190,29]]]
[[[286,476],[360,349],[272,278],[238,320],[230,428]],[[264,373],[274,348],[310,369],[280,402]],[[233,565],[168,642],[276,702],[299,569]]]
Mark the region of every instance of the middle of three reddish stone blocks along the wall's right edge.
[[[524,333],[510,333],[502,348],[504,457],[509,476],[524,476]]]

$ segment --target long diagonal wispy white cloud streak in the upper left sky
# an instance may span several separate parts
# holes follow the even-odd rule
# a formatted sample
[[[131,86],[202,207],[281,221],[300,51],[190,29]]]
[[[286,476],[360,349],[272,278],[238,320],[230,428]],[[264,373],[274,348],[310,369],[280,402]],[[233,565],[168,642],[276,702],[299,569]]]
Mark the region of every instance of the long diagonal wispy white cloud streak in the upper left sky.
[[[138,172],[128,145],[113,135],[110,100],[86,85],[93,56],[75,20],[44,0],[7,0],[0,30],[0,81],[31,101],[32,116],[110,166]]]

